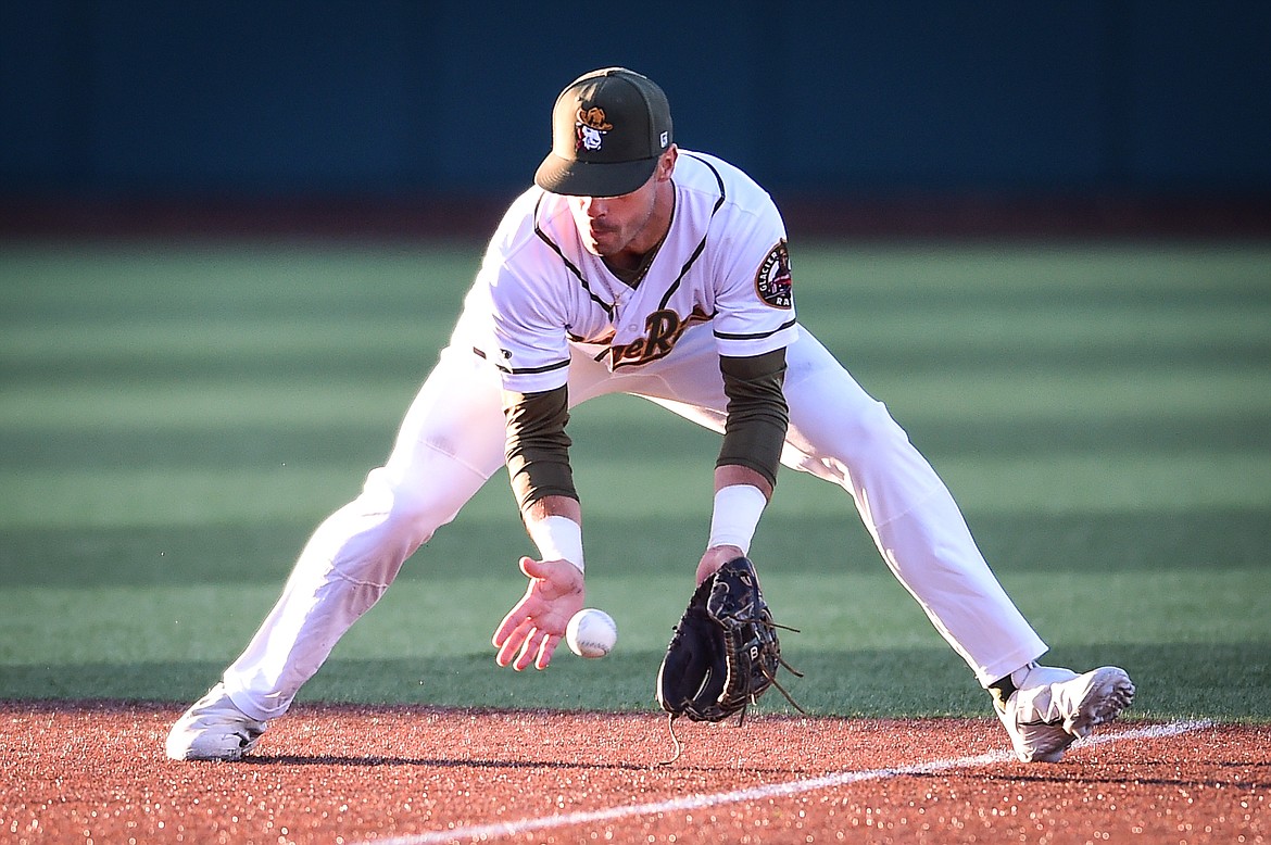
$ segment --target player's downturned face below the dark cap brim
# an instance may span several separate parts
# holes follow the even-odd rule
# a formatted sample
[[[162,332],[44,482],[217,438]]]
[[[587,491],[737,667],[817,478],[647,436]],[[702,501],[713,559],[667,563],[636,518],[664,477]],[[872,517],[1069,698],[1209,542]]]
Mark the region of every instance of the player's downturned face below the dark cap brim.
[[[611,258],[623,252],[644,253],[665,234],[670,221],[671,166],[675,156],[663,155],[643,186],[620,197],[568,197],[573,224],[583,248],[592,255]]]

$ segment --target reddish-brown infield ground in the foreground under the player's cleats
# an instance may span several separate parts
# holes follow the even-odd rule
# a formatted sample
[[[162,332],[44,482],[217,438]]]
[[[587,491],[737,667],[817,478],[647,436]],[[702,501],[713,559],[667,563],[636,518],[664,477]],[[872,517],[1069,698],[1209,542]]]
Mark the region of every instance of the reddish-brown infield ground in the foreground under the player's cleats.
[[[1054,765],[990,719],[296,706],[250,761],[172,705],[0,703],[0,842],[1266,842],[1271,728],[1111,726]]]

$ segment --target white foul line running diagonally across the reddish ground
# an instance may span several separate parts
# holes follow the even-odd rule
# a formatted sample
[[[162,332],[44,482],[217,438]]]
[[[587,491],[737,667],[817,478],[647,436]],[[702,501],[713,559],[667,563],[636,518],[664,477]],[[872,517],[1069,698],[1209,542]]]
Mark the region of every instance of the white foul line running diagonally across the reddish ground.
[[[1199,722],[1171,722],[1168,724],[1155,724],[1116,733],[1103,733],[1079,740],[1073,747],[1088,747],[1104,745],[1108,742],[1124,742],[1126,740],[1160,740],[1174,737],[1191,731],[1200,731],[1214,723],[1205,719]],[[732,792],[718,792],[704,795],[688,795],[671,801],[658,801],[647,804],[628,804],[624,807],[610,807],[608,809],[592,809],[587,812],[563,813],[553,816],[539,816],[536,818],[519,818],[515,821],[498,822],[494,825],[477,825],[472,827],[451,827],[450,830],[430,831],[412,836],[399,836],[395,839],[377,839],[374,845],[433,845],[435,842],[455,841],[482,841],[498,836],[519,836],[535,830],[548,827],[572,827],[574,825],[590,825],[594,822],[615,821],[632,816],[656,816],[658,813],[674,813],[688,809],[700,809],[703,807],[717,807],[719,804],[736,804],[746,801],[763,801],[768,798],[788,798],[817,789],[833,789],[846,784],[864,780],[887,780],[890,778],[904,778],[906,775],[927,775],[949,769],[965,769],[970,766],[986,766],[995,762],[1008,762],[1016,760],[1016,755],[1009,751],[994,751],[970,757],[956,757],[952,760],[933,760],[919,762],[913,766],[900,766],[896,769],[867,769],[864,771],[836,771],[820,778],[807,780],[789,780],[780,784],[766,784],[763,787],[747,787]],[[367,844],[370,845],[370,844]]]

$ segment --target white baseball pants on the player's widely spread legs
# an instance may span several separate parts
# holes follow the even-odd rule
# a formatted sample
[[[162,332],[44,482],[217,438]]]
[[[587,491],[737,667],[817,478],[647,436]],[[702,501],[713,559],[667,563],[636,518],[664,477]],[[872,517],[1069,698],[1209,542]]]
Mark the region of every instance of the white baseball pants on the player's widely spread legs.
[[[783,464],[852,496],[883,560],[981,686],[1040,657],[1045,643],[989,569],[948,489],[883,404],[806,329],[787,349],[787,365],[791,424]],[[726,398],[709,324],[685,332],[666,358],[618,372],[576,349],[571,404],[609,393],[642,395],[723,431]],[[318,527],[278,602],[226,670],[222,680],[239,709],[255,719],[282,715],[402,563],[502,466],[498,375],[456,333],[407,412],[385,465],[367,475],[361,496]]]

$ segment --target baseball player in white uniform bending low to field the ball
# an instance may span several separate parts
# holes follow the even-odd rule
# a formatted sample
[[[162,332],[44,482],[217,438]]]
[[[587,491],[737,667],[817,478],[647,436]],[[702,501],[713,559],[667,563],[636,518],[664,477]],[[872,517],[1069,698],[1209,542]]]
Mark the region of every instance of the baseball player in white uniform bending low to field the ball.
[[[850,496],[1021,760],[1059,760],[1130,704],[1120,668],[1037,665],[1046,644],[944,484],[796,320],[784,224],[758,184],[677,147],[665,94],[625,69],[571,83],[552,130],[388,461],[315,531],[247,649],[172,728],[168,756],[250,751],[402,563],[503,466],[539,558],[520,560],[527,587],[494,632],[496,659],[545,668],[585,596],[569,409],[609,393],[722,435],[699,583],[747,553],[784,464]]]

